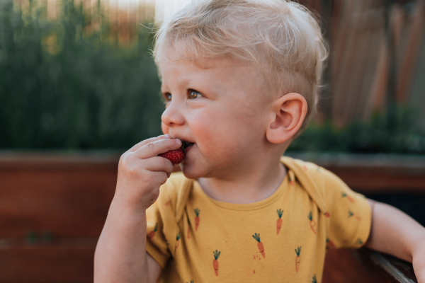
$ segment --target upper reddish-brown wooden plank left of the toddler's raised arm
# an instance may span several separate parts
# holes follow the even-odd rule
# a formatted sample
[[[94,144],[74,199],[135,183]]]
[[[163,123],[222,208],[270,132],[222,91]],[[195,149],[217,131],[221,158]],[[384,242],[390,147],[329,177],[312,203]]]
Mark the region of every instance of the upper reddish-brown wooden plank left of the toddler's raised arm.
[[[116,168],[1,170],[0,237],[22,237],[28,231],[98,236],[116,178]]]

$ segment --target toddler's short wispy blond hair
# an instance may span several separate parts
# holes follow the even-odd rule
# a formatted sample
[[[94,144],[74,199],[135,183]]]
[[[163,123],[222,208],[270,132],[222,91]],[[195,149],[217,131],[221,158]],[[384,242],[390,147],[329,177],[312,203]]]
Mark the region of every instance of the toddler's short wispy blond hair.
[[[166,18],[157,31],[154,58],[164,47],[180,47],[181,59],[230,56],[256,62],[275,93],[300,93],[307,127],[328,47],[317,17],[285,0],[200,0]]]

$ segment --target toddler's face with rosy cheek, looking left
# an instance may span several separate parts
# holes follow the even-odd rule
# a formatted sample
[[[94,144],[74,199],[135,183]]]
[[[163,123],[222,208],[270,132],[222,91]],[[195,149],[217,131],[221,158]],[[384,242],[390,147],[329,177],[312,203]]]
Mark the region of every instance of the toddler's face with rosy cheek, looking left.
[[[205,59],[202,67],[173,61],[176,54],[168,51],[159,64],[166,99],[162,130],[194,143],[186,149],[183,173],[194,179],[249,173],[264,158],[271,118],[261,75],[252,64],[232,59]]]

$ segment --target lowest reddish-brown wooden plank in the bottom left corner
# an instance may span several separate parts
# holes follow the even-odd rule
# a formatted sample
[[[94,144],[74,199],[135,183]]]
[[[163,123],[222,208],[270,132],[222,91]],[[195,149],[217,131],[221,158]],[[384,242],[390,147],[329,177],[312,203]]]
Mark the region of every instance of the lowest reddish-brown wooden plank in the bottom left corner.
[[[69,238],[32,246],[23,239],[0,239],[0,282],[93,282],[96,242]]]

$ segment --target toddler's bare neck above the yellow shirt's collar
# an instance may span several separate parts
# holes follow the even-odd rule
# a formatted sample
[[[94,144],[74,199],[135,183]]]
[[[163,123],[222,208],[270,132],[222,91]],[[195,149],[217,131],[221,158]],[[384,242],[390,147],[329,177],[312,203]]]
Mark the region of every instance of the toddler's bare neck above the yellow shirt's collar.
[[[286,175],[280,158],[269,163],[256,163],[249,169],[227,178],[199,178],[198,183],[213,200],[246,204],[273,195]]]

